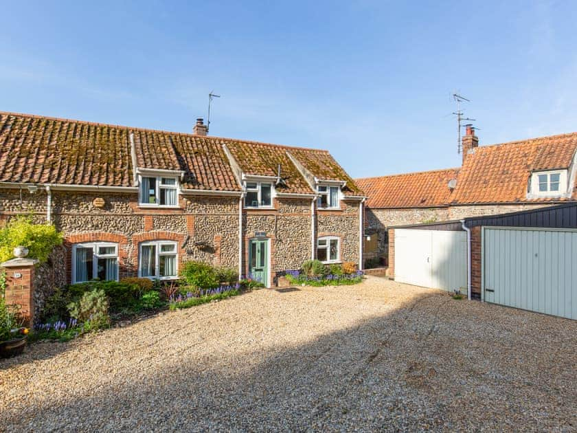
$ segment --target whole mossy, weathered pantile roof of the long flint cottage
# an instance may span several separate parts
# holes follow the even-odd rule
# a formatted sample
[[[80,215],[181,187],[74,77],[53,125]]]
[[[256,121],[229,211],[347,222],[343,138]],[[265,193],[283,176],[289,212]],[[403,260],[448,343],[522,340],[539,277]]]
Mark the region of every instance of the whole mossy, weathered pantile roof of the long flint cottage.
[[[360,192],[327,151],[1,111],[0,181],[133,186],[131,133],[136,167],[183,171],[184,188],[240,190],[226,144],[245,173],[276,176],[281,164],[285,192],[313,192],[287,151],[319,179]]]

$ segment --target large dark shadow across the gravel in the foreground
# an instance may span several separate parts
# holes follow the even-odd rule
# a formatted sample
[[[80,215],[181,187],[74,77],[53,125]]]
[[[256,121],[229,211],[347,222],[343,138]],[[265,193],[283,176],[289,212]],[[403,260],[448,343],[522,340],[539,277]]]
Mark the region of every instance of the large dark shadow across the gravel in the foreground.
[[[137,381],[110,377],[1,419],[7,430],[572,430],[577,326],[551,322],[423,293],[308,344],[202,364],[189,348]]]

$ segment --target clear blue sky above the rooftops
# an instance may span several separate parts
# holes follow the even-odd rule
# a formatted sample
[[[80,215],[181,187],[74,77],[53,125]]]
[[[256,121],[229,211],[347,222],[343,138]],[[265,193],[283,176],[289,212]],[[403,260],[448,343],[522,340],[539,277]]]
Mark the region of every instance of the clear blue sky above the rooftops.
[[[0,1],[0,110],[328,148],[354,177],[577,131],[574,1]]]

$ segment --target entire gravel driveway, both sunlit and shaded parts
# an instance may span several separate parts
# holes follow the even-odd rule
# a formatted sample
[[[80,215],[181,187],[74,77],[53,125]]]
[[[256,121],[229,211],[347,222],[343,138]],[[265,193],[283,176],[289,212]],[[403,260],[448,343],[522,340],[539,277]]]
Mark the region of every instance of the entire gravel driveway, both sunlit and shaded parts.
[[[14,430],[577,430],[577,322],[368,277],[0,361]]]

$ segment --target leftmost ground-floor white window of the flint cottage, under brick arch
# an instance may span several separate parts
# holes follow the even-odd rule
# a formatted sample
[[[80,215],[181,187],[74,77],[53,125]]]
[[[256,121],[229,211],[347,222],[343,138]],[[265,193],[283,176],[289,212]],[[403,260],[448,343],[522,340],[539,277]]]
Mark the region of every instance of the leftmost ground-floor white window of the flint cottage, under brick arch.
[[[109,242],[72,245],[72,283],[118,280],[118,244]]]

